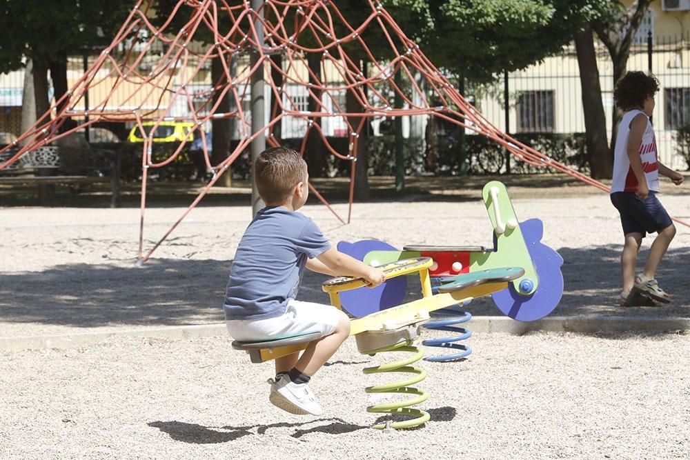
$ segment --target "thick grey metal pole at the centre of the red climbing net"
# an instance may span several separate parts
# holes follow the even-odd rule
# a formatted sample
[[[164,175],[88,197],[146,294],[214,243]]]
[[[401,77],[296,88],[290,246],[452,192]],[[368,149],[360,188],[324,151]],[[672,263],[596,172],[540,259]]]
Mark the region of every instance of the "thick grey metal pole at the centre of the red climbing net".
[[[257,17],[255,17],[254,26],[257,32],[257,43],[258,46],[262,46],[264,43],[264,24],[261,19],[264,19],[264,0],[251,0],[251,8],[257,12]],[[259,50],[253,50],[250,57],[250,66],[254,66],[259,62],[261,54]],[[255,216],[260,209],[266,206],[264,201],[259,197],[259,191],[257,190],[256,182],[254,180],[254,164],[259,157],[259,154],[266,150],[266,134],[264,132],[264,127],[266,123],[264,122],[264,65],[263,63],[259,68],[252,74],[251,80],[251,107],[252,107],[252,133],[259,135],[255,137],[252,141],[251,147],[251,159],[252,159],[252,216]]]

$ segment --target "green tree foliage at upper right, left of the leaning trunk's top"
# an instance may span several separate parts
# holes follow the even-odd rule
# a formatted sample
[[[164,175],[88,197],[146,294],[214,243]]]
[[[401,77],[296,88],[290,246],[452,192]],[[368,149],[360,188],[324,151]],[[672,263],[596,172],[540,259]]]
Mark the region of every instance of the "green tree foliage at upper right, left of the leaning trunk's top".
[[[418,39],[436,66],[489,81],[555,54],[600,17],[593,0],[430,0],[433,27]]]

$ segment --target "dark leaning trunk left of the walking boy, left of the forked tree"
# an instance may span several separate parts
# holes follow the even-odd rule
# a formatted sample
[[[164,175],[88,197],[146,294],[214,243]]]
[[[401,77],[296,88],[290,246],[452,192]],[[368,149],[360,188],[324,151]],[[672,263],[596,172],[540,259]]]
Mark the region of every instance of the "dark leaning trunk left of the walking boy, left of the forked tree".
[[[606,115],[602,103],[602,89],[591,28],[586,28],[575,34],[575,50],[578,53],[578,66],[580,67],[582,108],[584,110],[590,175],[593,179],[609,179],[613,170],[613,163],[607,143]]]

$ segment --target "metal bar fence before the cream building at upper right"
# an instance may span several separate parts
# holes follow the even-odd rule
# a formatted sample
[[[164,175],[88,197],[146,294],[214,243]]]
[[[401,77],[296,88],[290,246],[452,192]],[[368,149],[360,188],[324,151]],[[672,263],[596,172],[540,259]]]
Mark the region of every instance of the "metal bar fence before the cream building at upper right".
[[[603,43],[595,42],[595,49],[610,139],[613,64]],[[678,153],[677,129],[690,125],[690,32],[672,37],[650,34],[647,43],[632,46],[627,69],[649,71],[659,79],[661,89],[652,121],[660,161],[670,168],[687,169],[685,159]],[[542,63],[504,75],[491,86],[472,90],[475,104],[502,130],[507,127],[506,132],[584,132],[582,88],[574,46]]]

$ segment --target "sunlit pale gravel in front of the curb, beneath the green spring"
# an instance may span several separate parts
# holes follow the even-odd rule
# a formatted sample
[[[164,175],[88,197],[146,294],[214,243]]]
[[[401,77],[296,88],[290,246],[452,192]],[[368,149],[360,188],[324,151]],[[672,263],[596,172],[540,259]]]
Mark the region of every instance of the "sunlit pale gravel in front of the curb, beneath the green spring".
[[[362,374],[391,354],[364,356],[353,340],[313,379],[321,417],[271,406],[271,364],[226,337],[0,352],[0,458],[690,457],[686,335],[470,341],[467,361],[417,363],[431,421],[393,433],[368,428],[380,399],[364,387],[380,376]]]

